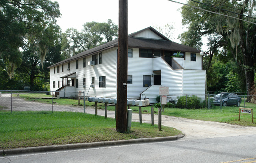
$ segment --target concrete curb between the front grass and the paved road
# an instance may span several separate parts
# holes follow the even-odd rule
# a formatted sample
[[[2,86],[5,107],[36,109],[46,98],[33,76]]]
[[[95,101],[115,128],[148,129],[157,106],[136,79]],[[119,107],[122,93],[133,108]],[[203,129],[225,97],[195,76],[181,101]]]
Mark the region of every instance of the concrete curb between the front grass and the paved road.
[[[28,147],[28,148],[15,148],[1,150],[0,155],[15,155],[15,154],[25,154],[25,153],[35,153],[35,152],[49,152],[56,150],[71,150],[71,149],[81,149],[81,148],[95,148],[95,147],[105,147],[105,146],[115,146],[115,145],[126,145],[132,143],[148,143],[148,142],[158,142],[158,141],[172,141],[178,140],[183,135],[168,136],[168,137],[153,137],[153,138],[140,138],[140,139],[130,139],[130,140],[118,140],[118,141],[102,141],[95,143],[77,143],[77,144],[67,144],[67,145],[50,145],[41,147]]]

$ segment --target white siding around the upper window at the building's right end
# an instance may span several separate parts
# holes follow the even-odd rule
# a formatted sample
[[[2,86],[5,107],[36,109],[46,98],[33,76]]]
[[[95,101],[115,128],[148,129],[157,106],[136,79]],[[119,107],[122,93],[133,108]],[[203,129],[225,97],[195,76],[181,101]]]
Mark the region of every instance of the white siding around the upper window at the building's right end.
[[[184,60],[184,69],[202,70],[202,55],[196,53],[196,61],[190,61],[190,54],[186,52],[186,60]]]

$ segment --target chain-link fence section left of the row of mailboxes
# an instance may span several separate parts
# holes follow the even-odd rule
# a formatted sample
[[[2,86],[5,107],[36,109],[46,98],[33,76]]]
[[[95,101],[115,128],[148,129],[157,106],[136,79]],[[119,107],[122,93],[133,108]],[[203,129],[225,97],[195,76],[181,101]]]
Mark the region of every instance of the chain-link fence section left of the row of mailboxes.
[[[0,110],[85,113],[85,92],[1,91]]]

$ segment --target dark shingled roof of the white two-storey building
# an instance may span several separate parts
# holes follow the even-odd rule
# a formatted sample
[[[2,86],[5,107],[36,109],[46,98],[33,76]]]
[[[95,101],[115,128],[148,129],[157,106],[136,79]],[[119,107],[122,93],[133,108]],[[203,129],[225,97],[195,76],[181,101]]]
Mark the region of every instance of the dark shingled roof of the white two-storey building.
[[[147,29],[150,29],[151,31],[156,33],[156,35],[163,38],[163,40],[134,37],[138,33],[141,33],[142,31],[145,31]],[[49,66],[48,68],[51,68],[51,67],[59,65],[59,64],[67,63],[72,60],[77,60],[77,59],[83,58],[87,55],[96,54],[100,51],[103,51],[103,50],[106,50],[109,48],[113,48],[113,47],[118,47],[118,39],[108,42],[106,44],[97,46],[95,48],[83,51],[82,53],[74,55],[68,59],[62,60],[56,64],[53,64],[52,66]],[[191,53],[200,53],[200,50],[198,50],[198,49],[191,48],[186,45],[178,44],[176,42],[169,40],[168,38],[163,36],[161,33],[156,31],[156,29],[154,29],[152,27],[147,27],[145,29],[142,29],[140,31],[137,31],[135,33],[128,35],[128,47],[129,48],[161,49],[161,50],[168,50],[168,51],[184,51],[184,52],[191,52]]]

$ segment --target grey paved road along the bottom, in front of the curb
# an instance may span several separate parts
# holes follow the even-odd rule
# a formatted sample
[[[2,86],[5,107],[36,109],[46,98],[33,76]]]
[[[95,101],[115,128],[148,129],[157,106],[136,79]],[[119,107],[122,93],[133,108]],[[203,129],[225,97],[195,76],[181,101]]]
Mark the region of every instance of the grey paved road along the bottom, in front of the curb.
[[[232,163],[256,162],[256,134],[141,143],[0,157],[1,163]],[[241,161],[235,161],[241,160]]]

